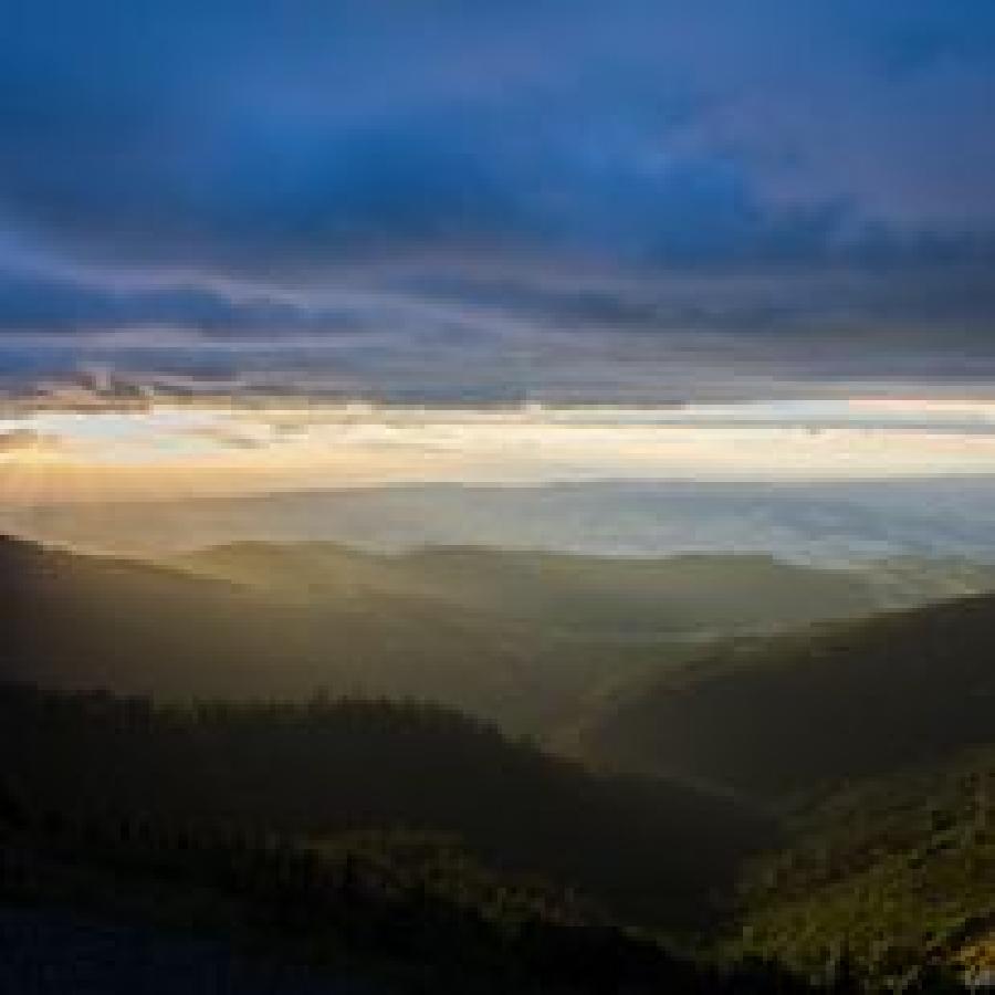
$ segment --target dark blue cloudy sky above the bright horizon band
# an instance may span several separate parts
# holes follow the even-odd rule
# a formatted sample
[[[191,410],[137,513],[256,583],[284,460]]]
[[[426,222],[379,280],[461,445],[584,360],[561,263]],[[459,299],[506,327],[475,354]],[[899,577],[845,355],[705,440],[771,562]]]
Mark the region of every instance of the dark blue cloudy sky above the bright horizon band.
[[[0,387],[984,401],[993,107],[989,0],[0,0]]]

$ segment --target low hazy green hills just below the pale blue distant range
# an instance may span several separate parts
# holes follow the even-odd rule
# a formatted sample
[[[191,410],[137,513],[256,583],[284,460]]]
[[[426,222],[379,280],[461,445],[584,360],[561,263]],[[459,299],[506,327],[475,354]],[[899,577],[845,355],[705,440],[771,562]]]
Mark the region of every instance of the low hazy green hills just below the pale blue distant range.
[[[169,561],[192,573],[326,603],[428,601],[586,635],[689,635],[797,625],[928,597],[898,566],[827,569],[763,555],[577,556],[476,547],[378,555],[334,543],[240,543]],[[882,572],[884,570],[882,566]],[[964,583],[995,586],[995,576]],[[941,587],[942,589],[942,587]]]

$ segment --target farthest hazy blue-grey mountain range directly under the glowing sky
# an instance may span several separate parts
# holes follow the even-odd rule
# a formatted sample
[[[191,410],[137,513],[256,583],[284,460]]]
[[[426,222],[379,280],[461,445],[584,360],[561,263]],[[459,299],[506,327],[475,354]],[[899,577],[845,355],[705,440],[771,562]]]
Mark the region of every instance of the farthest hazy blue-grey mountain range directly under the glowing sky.
[[[9,509],[41,540],[161,554],[243,540],[381,551],[489,546],[606,556],[766,553],[840,565],[892,556],[995,563],[995,478],[851,482],[586,481],[398,485]]]

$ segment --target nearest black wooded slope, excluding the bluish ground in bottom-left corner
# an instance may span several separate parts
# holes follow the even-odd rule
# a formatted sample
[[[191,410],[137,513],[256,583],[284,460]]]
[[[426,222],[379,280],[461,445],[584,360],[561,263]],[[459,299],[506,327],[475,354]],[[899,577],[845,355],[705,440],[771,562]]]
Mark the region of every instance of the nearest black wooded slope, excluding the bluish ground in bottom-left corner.
[[[388,992],[814,989],[762,959],[695,964],[570,892],[500,878],[423,840],[346,839],[316,849],[231,827],[29,814],[10,798],[4,789],[0,891],[8,902],[83,901],[91,912],[159,928],[221,929],[247,949],[262,941]],[[406,853],[410,847],[418,860]]]

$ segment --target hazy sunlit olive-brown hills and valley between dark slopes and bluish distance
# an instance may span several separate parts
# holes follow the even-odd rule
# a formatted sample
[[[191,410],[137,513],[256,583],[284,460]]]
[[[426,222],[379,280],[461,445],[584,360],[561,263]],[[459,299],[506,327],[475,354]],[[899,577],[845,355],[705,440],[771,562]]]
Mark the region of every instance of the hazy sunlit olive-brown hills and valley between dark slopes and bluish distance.
[[[702,640],[995,586],[988,568],[823,570],[766,556],[617,559],[240,544],[150,564],[0,543],[2,672],[180,698],[415,696],[547,732]]]

